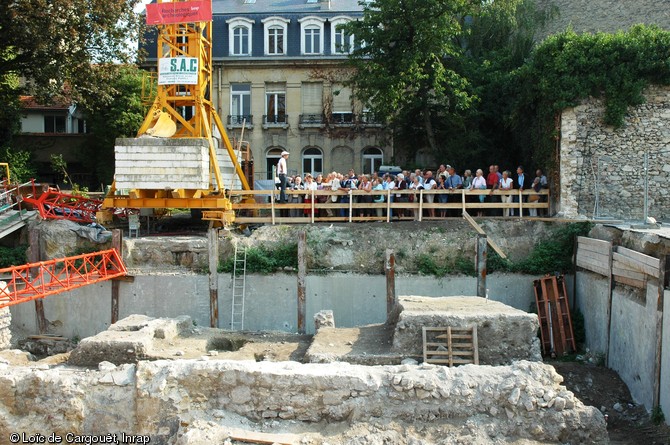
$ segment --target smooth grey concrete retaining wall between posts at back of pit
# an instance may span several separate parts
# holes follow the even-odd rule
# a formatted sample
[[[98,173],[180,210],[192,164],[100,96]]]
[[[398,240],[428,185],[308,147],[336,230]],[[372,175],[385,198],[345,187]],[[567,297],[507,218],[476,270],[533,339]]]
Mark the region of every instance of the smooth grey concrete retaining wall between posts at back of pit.
[[[488,276],[489,296],[516,309],[528,311],[534,302],[527,275]],[[297,331],[297,278],[290,274],[248,275],[244,328],[250,330]],[[230,327],[232,305],[230,275],[219,276],[219,327]],[[434,278],[396,276],[397,295],[427,297],[474,295],[472,277]],[[386,321],[386,281],[380,275],[336,273],[308,276],[307,320],[322,309],[333,310],[338,327],[361,326]],[[88,337],[106,330],[111,317],[111,284],[101,283],[48,297],[46,318],[53,333],[66,337]],[[133,283],[121,283],[119,318],[131,314],[151,317],[189,315],[198,325],[209,326],[209,287],[206,275],[136,275]],[[12,307],[17,331],[37,332],[32,304]],[[313,323],[307,323],[312,333]]]

